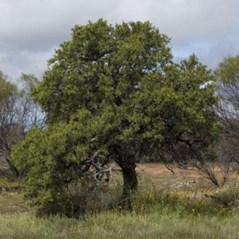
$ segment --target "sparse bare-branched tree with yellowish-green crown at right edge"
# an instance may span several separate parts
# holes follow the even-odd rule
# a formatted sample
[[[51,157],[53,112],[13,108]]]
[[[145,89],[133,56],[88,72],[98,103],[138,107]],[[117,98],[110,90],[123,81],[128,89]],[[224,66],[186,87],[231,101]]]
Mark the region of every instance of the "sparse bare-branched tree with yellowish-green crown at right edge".
[[[239,162],[239,56],[226,57],[215,71],[219,104],[216,108],[223,125],[221,154],[227,162]]]

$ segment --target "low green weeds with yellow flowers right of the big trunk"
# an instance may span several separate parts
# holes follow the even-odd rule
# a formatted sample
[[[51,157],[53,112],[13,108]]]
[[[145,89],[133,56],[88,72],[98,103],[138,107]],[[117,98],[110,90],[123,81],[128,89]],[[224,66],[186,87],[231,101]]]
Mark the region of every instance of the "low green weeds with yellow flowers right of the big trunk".
[[[178,212],[181,216],[215,216],[230,213],[224,205],[215,204],[211,200],[205,200],[205,198],[193,200],[186,193],[157,190],[148,185],[132,195],[132,205],[133,211],[139,214],[152,211]]]

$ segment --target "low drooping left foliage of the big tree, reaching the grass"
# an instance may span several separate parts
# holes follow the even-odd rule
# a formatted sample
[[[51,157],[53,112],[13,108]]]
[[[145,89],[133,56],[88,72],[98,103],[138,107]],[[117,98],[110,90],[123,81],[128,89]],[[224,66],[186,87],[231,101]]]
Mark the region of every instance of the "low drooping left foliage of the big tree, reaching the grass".
[[[45,213],[79,216],[99,192],[100,182],[76,157],[91,150],[80,145],[91,125],[71,123],[61,122],[47,130],[32,128],[13,153],[25,176],[25,196]],[[103,185],[107,186],[104,181]]]

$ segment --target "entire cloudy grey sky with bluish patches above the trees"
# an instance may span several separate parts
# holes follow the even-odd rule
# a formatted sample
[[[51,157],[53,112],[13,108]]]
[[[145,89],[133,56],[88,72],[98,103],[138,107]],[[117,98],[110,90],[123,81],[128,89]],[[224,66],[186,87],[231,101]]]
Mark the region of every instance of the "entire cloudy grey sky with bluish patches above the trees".
[[[171,38],[176,60],[195,53],[214,68],[239,55],[239,0],[0,0],[0,70],[41,77],[76,24],[149,20]]]

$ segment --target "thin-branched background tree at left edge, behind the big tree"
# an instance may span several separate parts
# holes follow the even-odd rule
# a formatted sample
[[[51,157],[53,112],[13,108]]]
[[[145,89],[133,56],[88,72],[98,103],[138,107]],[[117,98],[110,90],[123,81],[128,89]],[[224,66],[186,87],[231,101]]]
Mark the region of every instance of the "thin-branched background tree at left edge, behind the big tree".
[[[36,80],[34,76],[22,74],[24,90],[20,90],[0,72],[0,156],[16,176],[19,176],[19,172],[10,157],[12,146],[24,138],[30,127],[43,119],[39,115],[39,107],[30,97],[28,86],[33,80]]]

